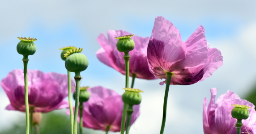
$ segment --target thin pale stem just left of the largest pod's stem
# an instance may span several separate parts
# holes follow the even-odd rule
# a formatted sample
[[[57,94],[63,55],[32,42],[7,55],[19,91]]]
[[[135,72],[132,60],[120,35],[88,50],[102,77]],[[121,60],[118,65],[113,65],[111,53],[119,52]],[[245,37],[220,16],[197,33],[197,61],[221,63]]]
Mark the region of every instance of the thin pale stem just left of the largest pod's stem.
[[[74,134],[74,117],[73,117],[73,107],[72,107],[72,90],[71,90],[71,77],[70,71],[68,71],[68,104],[70,113],[70,123],[71,123],[71,134]]]

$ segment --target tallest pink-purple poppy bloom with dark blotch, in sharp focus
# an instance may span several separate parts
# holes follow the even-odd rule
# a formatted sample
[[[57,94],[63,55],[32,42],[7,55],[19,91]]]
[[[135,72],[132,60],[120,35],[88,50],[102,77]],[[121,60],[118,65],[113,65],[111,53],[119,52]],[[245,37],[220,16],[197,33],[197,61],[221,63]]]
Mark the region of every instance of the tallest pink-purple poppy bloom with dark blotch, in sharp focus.
[[[159,79],[171,72],[171,84],[189,85],[205,80],[222,66],[221,52],[209,48],[205,29],[199,26],[186,42],[179,30],[163,17],[156,17],[147,50],[149,70]],[[166,80],[160,84],[166,84]]]

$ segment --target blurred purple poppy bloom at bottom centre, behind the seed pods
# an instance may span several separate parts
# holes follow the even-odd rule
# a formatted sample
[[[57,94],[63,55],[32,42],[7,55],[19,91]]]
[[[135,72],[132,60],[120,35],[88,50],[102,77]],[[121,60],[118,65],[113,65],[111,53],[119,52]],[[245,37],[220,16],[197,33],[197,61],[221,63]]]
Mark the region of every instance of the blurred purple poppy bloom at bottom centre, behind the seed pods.
[[[94,130],[118,132],[121,130],[121,120],[124,102],[122,96],[115,91],[103,87],[88,88],[90,99],[84,102],[83,126]],[[140,105],[133,105],[132,123],[140,114]]]

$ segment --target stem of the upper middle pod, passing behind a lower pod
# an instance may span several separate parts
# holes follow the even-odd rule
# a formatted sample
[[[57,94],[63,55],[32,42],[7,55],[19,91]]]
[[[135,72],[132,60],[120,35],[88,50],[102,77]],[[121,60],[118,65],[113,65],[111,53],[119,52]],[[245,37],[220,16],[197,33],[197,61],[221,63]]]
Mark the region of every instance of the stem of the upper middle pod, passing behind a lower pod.
[[[124,52],[124,62],[125,62],[125,88],[129,88],[129,74],[130,74],[130,55],[129,52]],[[125,127],[125,117],[126,117],[126,109],[128,105],[124,103],[123,113],[122,113],[122,122],[121,122],[121,131],[120,134],[124,134]]]

